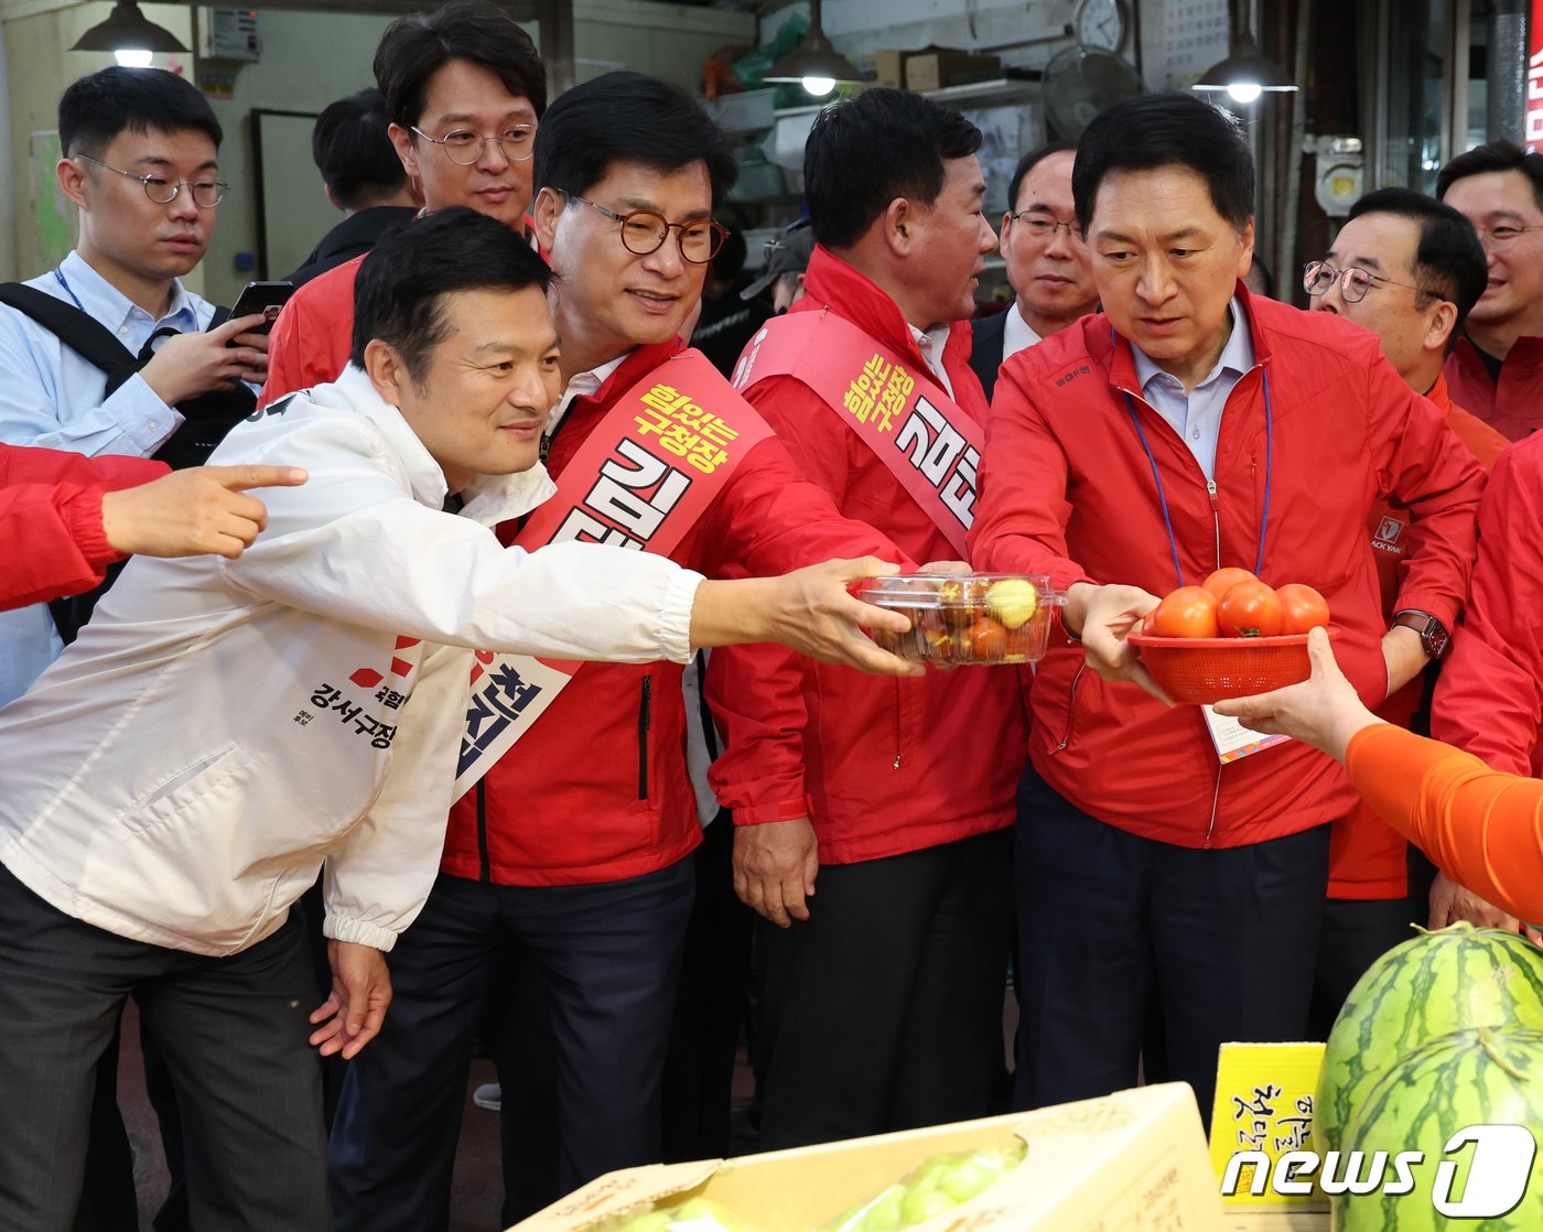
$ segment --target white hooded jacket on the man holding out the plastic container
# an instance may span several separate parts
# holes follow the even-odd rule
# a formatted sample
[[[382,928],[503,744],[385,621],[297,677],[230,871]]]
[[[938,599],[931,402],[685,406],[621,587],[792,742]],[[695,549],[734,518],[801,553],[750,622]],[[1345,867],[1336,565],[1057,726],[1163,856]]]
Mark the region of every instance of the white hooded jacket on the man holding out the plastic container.
[[[701,575],[500,546],[491,527],[555,490],[540,466],[443,512],[438,464],[353,367],[211,461],[310,481],[264,489],[239,560],[131,560],[0,711],[0,862],[86,924],[216,956],[272,934],[326,862],[327,936],[390,950],[438,871],[471,648],[687,663]]]

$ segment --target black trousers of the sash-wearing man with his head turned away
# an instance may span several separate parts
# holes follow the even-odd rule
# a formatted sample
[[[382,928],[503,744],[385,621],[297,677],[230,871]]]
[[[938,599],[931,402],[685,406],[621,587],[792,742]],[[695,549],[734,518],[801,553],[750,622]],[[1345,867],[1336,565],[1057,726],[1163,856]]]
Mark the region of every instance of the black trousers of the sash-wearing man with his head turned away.
[[[984,1116],[1012,927],[1012,833],[826,865],[762,922],[767,1150]]]

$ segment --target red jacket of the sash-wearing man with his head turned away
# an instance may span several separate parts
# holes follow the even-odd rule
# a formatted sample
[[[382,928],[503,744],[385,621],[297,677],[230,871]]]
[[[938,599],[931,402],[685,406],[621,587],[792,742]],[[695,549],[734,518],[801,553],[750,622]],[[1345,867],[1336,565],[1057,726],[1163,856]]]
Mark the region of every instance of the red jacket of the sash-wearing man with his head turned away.
[[[850,265],[815,248],[804,285],[792,311],[829,305],[926,372],[900,308]],[[984,419],[969,350],[969,324],[958,322],[943,352],[944,372],[963,410]],[[958,555],[802,381],[767,376],[745,396],[842,513],[880,527],[917,561]],[[772,646],[731,648],[713,655],[708,697],[727,737],[711,771],[719,800],[741,825],[809,816],[822,863],[918,851],[1012,825],[1025,739],[1014,671],[961,668],[900,680]]]

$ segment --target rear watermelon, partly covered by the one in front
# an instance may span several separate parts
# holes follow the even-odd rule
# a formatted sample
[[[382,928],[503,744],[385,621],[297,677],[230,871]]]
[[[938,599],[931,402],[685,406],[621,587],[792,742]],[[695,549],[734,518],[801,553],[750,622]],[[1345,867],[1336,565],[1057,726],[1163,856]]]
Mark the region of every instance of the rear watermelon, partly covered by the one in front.
[[[1383,954],[1350,990],[1329,1033],[1313,1147],[1338,1150],[1378,1078],[1421,1044],[1469,1027],[1543,1030],[1543,953],[1517,933],[1464,921]]]

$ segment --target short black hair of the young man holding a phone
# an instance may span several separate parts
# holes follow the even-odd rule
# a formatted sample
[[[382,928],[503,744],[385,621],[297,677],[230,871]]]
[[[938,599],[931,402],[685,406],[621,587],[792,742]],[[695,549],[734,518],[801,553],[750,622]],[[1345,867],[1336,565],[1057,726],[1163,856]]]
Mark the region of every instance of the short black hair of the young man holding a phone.
[[[100,159],[119,133],[194,128],[214,148],[225,139],[199,91],[164,68],[103,68],[69,85],[59,99],[59,145],[65,157]]]

